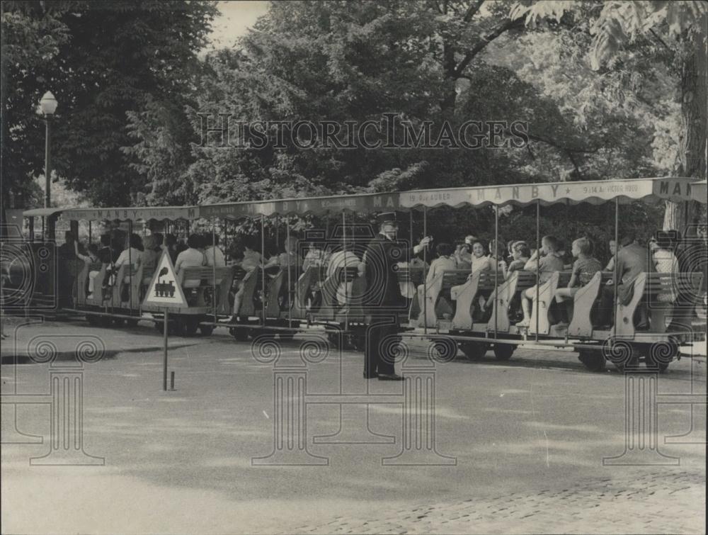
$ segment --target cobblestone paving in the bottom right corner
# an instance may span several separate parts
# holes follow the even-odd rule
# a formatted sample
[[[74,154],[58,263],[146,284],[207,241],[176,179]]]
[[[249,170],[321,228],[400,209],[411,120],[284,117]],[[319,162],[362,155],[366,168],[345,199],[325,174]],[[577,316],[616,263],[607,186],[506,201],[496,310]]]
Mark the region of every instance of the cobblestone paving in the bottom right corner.
[[[295,533],[704,533],[705,478],[652,471],[537,494],[421,504],[381,519],[334,517]]]

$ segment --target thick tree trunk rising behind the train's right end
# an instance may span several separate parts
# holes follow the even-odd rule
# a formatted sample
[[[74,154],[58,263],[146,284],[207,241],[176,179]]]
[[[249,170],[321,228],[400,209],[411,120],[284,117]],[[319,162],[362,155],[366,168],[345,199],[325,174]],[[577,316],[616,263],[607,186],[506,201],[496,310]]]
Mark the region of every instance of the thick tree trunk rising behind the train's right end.
[[[681,74],[681,137],[679,139],[678,174],[696,179],[706,178],[708,150],[708,55],[704,33],[697,33],[688,43]],[[695,225],[704,208],[695,202],[666,203],[664,230],[680,230],[686,234]]]

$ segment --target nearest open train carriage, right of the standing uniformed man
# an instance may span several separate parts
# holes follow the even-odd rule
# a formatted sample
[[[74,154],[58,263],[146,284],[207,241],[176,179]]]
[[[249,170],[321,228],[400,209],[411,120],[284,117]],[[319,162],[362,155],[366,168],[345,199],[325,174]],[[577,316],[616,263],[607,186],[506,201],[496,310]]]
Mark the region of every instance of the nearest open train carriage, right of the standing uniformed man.
[[[498,242],[499,209],[505,205],[536,206],[536,243],[539,244],[539,216],[544,206],[563,203],[614,203],[615,242],[619,242],[621,206],[629,203],[662,201],[706,203],[705,181],[688,178],[651,178],[612,181],[580,181],[546,184],[517,184],[471,188],[445,188],[401,193],[401,209],[418,210],[426,218],[428,210],[440,206],[459,208],[465,205],[483,208],[491,206],[495,213],[495,240]],[[705,262],[705,259],[703,259]],[[632,282],[632,292],[626,300],[615,292],[612,309],[615,322],[602,325],[596,311],[603,286],[619,280],[616,271],[598,271],[592,280],[574,295],[570,308],[572,319],[561,322],[555,293],[567,286],[571,273],[558,271],[542,284],[539,273],[517,271],[504,280],[500,271],[482,272],[467,278],[459,271],[447,271],[440,284],[426,288],[428,297],[424,320],[416,327],[423,334],[435,332],[433,339],[442,344],[459,344],[467,356],[477,359],[491,347],[498,359],[508,359],[519,344],[573,347],[579,358],[591,370],[605,367],[610,359],[618,367],[634,365],[639,359],[666,369],[678,356],[680,344],[690,343],[704,332],[704,325],[691,325],[690,316],[695,301],[704,293],[702,272],[643,273]],[[431,285],[433,286],[433,285]],[[656,296],[670,288],[690,295],[691,303],[658,302]],[[529,325],[516,325],[521,292],[535,288]],[[478,303],[482,294],[493,293],[491,313],[481,314]],[[516,303],[516,305],[514,305]],[[430,310],[430,309],[433,310]],[[688,313],[686,313],[688,312]],[[647,315],[639,325],[640,317]],[[683,315],[681,321],[676,321]],[[673,322],[668,324],[668,320]],[[447,337],[440,337],[445,334]],[[454,341],[454,342],[453,342]],[[659,356],[657,356],[659,355]]]

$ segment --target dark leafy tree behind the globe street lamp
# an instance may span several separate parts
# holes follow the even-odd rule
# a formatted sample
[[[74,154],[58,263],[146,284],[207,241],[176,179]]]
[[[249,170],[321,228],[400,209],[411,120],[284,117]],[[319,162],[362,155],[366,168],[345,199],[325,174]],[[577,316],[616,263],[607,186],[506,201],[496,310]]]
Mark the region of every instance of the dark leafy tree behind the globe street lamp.
[[[42,172],[34,115],[47,89],[59,101],[53,167],[98,205],[129,204],[146,188],[131,167],[128,113],[181,106],[198,77],[213,2],[3,3],[3,178],[21,190]],[[8,157],[6,157],[8,155]]]

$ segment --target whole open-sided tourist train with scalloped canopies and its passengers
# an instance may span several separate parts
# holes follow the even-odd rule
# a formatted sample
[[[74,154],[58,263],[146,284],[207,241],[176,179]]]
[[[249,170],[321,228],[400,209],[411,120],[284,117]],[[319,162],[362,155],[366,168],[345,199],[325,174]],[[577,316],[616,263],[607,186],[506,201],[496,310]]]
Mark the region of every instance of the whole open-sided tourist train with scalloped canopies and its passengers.
[[[494,258],[488,269],[475,271],[456,264],[455,269],[440,269],[431,276],[430,248],[418,257],[401,258],[396,265],[404,304],[396,312],[401,337],[427,338],[439,354],[454,356],[459,349],[469,359],[479,359],[491,350],[496,359],[506,360],[516,347],[536,344],[573,348],[581,362],[593,371],[605,368],[606,361],[620,369],[644,361],[663,371],[680,356],[681,345],[704,336],[705,325],[700,322],[705,317],[696,315],[697,308],[703,306],[704,310],[705,304],[704,236],[683,239],[693,239],[700,246],[696,250],[702,251],[702,257],[697,261],[694,258],[691,265],[702,267],[690,271],[647,269],[633,274],[632,280],[622,285],[613,283],[623,275],[618,261],[614,266],[595,269],[578,283],[574,279],[576,264],[542,272],[544,262],[537,259],[535,269],[525,264],[510,271],[498,253],[499,212],[507,205],[536,207],[536,238],[532,241],[535,249],[547,253],[538,223],[546,206],[613,203],[617,247],[623,237],[622,207],[662,201],[705,204],[706,182],[668,177],[439,188],[183,207],[26,210],[25,229],[9,232],[3,244],[3,306],[7,313],[84,315],[92,325],[105,327],[154,322],[161,330],[164,309],[145,299],[155,282],[155,291],[161,298],[176,295],[178,285],[187,300],[186,305],[170,310],[174,334],[192,336],[200,331],[208,335],[216,327],[223,327],[236,339],[245,341],[264,333],[291,339],[297,332],[325,329],[332,342],[361,349],[367,325],[368,312],[362,305],[367,281],[361,266],[348,261],[346,252],[365,263],[365,244],[376,230],[358,221],[357,214],[404,215],[411,235],[413,221],[420,226],[422,220],[423,235],[428,235],[431,210],[491,207],[495,228],[489,234],[495,238],[496,252],[489,253]],[[286,244],[280,260],[266,261],[266,223],[295,215],[314,215],[331,223],[324,230],[308,230],[304,235],[299,232],[297,240],[287,226],[285,236],[276,239]],[[236,225],[244,220],[250,221],[251,226],[260,225],[259,236],[249,249],[249,258],[256,259],[250,265],[246,257],[240,261],[223,258],[223,249],[229,250],[236,240]],[[195,256],[198,265],[194,265],[172,257],[176,280],[160,279],[161,275],[154,271],[159,254],[168,247],[164,243],[166,237],[187,236],[190,225],[198,222],[202,227],[206,222],[210,232],[202,235],[201,244],[193,243],[190,250],[194,251],[193,256],[201,252],[204,261],[200,263]],[[96,240],[95,229],[101,224],[113,225],[123,232],[105,232]],[[116,261],[113,254],[101,257],[96,247],[96,254],[88,254],[86,247],[80,249],[78,245],[73,246],[75,254],[70,250],[72,244],[57,247],[55,234],[60,225],[68,226],[74,237],[80,234],[79,225],[88,227],[89,243],[102,240],[99,245],[116,254],[125,244],[115,247],[110,241],[113,237],[125,239],[127,247],[121,254],[127,256]],[[158,244],[152,240],[151,261],[136,261],[135,257],[142,257],[142,244],[138,243],[141,240],[136,239],[135,244],[131,240],[141,234],[161,238]],[[342,253],[338,263],[329,266],[322,261],[328,247],[334,254]],[[587,244],[578,242],[578,247],[587,249]],[[547,249],[553,247],[549,245]],[[570,244],[565,249],[570,252]],[[651,254],[649,249],[646,251]],[[218,252],[222,259],[217,259]],[[451,252],[447,252],[447,257],[452,257]],[[156,277],[158,280],[154,281]],[[569,281],[573,280],[574,288],[569,288]],[[609,315],[603,315],[603,299],[607,300],[608,295]]]

